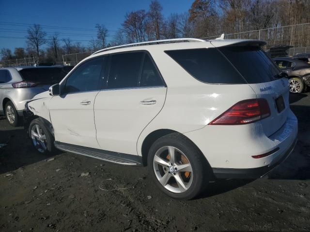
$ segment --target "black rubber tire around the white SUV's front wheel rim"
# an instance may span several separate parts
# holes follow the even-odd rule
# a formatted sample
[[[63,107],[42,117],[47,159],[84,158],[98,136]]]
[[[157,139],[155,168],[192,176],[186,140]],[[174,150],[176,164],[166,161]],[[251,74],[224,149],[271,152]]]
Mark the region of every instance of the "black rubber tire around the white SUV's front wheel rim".
[[[33,142],[33,138],[31,137],[31,130],[32,128],[36,128],[36,125],[39,126],[39,128],[42,130],[40,130],[42,132],[43,135],[45,135],[45,146],[46,146],[46,149],[42,149],[42,145],[41,147],[39,147],[40,143],[38,144],[34,144]],[[29,124],[29,128],[28,128],[28,134],[29,134],[29,137],[31,139],[31,144],[33,145],[34,149],[41,153],[41,154],[51,154],[51,153],[54,153],[55,152],[55,146],[54,146],[54,141],[55,141],[55,138],[54,136],[48,131],[46,125],[40,120],[40,118],[35,118],[31,121],[31,123]],[[41,149],[40,149],[41,148]]]

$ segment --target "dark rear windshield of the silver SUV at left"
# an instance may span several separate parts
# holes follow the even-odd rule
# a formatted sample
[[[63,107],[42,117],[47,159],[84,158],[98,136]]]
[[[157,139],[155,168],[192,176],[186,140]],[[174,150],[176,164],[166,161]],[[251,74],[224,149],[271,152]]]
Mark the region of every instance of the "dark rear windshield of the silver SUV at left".
[[[57,84],[68,72],[63,68],[31,68],[19,71],[25,81],[33,81],[42,85]]]

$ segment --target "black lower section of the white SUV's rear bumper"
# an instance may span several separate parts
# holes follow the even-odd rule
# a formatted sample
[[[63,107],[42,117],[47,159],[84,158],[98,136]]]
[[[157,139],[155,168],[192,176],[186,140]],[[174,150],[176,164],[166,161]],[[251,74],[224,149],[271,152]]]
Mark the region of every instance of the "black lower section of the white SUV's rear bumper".
[[[259,168],[234,169],[234,168],[213,168],[215,177],[219,179],[257,179],[268,174],[272,169],[277,167],[280,163],[286,160],[294,150],[297,143],[297,138],[293,144],[279,155],[277,159],[273,160],[269,165]]]

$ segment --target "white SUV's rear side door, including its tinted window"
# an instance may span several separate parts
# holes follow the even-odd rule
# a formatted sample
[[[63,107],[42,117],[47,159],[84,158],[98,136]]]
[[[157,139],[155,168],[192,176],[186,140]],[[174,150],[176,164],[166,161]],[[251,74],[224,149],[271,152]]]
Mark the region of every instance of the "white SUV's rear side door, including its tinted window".
[[[137,155],[139,135],[162,109],[166,91],[148,53],[110,55],[109,79],[94,103],[101,149]]]

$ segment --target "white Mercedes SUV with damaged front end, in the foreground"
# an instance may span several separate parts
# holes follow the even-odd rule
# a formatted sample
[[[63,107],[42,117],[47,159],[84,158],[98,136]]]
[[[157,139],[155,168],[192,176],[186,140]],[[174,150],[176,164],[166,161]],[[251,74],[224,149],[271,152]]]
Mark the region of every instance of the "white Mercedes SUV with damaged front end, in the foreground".
[[[259,178],[297,137],[285,74],[257,40],[174,39],[100,50],[26,104],[35,148],[148,165],[178,199],[213,177]]]

